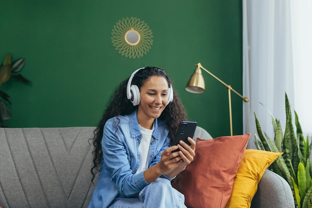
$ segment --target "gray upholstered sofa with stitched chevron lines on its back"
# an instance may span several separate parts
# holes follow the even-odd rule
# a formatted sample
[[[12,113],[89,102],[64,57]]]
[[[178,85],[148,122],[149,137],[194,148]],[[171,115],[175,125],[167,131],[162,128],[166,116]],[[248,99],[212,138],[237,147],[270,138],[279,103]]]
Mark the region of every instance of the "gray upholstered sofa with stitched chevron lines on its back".
[[[88,143],[93,130],[0,128],[0,207],[86,208],[94,190]],[[200,127],[196,137],[211,138]],[[294,207],[290,186],[267,170],[252,208]]]

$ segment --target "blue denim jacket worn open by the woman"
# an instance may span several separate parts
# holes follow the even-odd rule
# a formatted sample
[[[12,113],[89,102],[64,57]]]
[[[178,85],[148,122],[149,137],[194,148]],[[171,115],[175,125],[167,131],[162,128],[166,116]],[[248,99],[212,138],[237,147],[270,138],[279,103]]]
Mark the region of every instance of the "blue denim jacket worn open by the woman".
[[[149,167],[158,163],[161,153],[170,147],[168,132],[165,122],[155,119]],[[106,122],[102,138],[101,169],[88,208],[107,208],[116,197],[137,197],[149,185],[143,172],[136,173],[140,165],[141,139],[137,111],[130,115],[113,117]],[[161,177],[167,178],[164,175]]]

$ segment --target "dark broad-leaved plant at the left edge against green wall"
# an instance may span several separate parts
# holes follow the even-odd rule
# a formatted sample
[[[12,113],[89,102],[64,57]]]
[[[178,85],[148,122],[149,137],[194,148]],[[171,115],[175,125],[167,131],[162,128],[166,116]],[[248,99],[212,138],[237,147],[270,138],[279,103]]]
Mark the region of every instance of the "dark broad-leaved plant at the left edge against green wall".
[[[8,81],[10,78],[14,78],[17,81],[24,83],[31,83],[31,81],[19,73],[24,64],[24,58],[18,58],[12,62],[11,54],[8,53],[3,61],[3,64],[0,65],[0,85]],[[11,105],[10,96],[0,90],[0,127],[4,127],[4,120],[11,118],[8,105]]]

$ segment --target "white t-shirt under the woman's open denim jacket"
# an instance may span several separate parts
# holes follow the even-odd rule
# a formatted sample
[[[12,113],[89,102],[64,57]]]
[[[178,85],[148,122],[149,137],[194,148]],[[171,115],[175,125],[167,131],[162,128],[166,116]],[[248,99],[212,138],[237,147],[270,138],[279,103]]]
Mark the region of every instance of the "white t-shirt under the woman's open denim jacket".
[[[153,129],[145,129],[140,126],[141,133],[142,133],[142,140],[139,145],[139,151],[141,153],[141,159],[140,159],[140,166],[138,168],[137,173],[141,173],[142,171],[145,171],[149,168],[149,152],[150,152],[150,143],[152,134],[154,131]]]

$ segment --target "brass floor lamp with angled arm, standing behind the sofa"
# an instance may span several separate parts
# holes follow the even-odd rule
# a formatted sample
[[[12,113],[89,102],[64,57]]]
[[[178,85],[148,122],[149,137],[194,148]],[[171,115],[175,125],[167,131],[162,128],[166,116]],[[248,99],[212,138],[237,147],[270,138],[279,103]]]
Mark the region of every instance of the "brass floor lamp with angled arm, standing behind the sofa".
[[[185,90],[191,93],[203,93],[205,92],[205,81],[204,81],[204,77],[202,76],[201,73],[201,69],[203,69],[204,71],[206,71],[208,74],[210,74],[211,76],[213,76],[216,80],[218,80],[219,82],[221,82],[223,85],[225,85],[228,89],[228,95],[229,95],[229,112],[230,112],[230,132],[231,132],[231,136],[233,136],[233,127],[232,127],[232,101],[231,101],[231,91],[233,91],[235,94],[237,94],[238,96],[240,96],[245,102],[248,102],[248,98],[247,97],[243,97],[241,94],[239,94],[238,92],[236,92],[231,85],[228,85],[226,83],[224,83],[221,79],[219,79],[218,77],[216,77],[215,75],[213,75],[210,71],[208,71],[207,69],[205,69],[200,63],[196,64],[196,69],[194,71],[194,74],[191,76],[191,78],[188,80],[187,85],[185,87]]]

